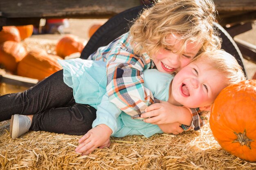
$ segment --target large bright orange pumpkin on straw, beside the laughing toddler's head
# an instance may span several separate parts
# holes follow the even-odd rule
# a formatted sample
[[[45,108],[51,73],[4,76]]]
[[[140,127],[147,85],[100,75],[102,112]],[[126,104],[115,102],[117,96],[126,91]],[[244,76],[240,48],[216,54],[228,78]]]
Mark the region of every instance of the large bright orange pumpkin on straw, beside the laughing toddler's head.
[[[224,88],[211,108],[209,123],[224,150],[247,161],[256,161],[256,80]]]

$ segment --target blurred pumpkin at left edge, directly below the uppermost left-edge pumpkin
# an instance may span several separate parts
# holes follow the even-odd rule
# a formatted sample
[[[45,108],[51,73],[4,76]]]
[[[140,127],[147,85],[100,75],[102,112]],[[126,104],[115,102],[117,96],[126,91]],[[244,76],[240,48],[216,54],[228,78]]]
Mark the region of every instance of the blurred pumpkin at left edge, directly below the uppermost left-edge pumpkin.
[[[18,62],[27,54],[20,42],[6,41],[0,44],[0,64],[8,71],[15,73]]]

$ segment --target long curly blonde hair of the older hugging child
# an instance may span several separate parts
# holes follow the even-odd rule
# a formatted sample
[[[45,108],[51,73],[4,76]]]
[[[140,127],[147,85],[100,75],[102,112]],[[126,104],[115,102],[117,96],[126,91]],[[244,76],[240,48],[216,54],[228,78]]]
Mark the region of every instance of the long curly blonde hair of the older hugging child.
[[[146,52],[152,57],[168,46],[166,38],[173,34],[182,40],[179,53],[190,41],[202,43],[200,52],[220,49],[221,40],[213,29],[215,16],[211,0],[158,0],[130,28],[134,52],[139,56]]]

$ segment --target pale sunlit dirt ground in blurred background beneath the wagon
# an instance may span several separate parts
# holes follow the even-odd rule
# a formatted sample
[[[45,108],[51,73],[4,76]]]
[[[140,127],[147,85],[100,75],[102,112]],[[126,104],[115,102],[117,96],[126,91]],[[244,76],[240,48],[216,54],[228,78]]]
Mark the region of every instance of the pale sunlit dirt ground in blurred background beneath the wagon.
[[[93,24],[104,24],[107,19],[69,19],[70,26],[64,29],[65,34],[73,34],[79,36],[83,40],[89,40],[89,29]],[[56,40],[58,41],[63,35],[61,34],[41,34],[32,35],[31,38],[40,38],[46,40]],[[251,44],[256,45],[256,22],[253,24],[253,29],[237,35],[234,39],[244,40]],[[252,79],[254,73],[256,72],[256,64],[248,60],[243,61],[245,64],[245,69],[247,71],[247,78]]]

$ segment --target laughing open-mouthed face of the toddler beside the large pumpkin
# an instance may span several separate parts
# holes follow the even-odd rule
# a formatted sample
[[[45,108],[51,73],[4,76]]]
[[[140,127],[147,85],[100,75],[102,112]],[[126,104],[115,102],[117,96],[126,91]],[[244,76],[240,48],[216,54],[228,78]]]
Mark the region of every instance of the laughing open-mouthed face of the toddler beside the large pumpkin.
[[[205,61],[191,62],[175,75],[171,98],[190,108],[209,106],[227,86],[226,81],[225,75],[211,64]]]

